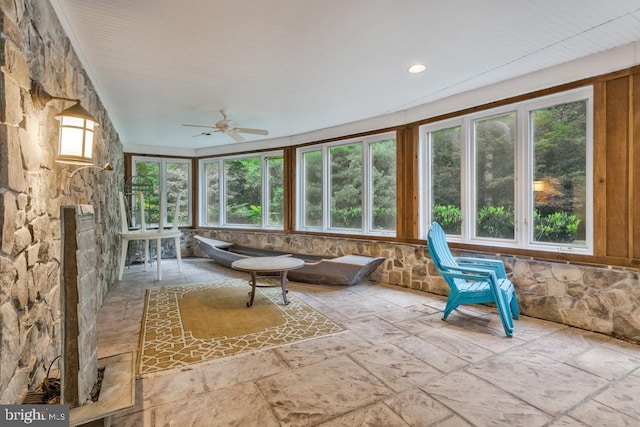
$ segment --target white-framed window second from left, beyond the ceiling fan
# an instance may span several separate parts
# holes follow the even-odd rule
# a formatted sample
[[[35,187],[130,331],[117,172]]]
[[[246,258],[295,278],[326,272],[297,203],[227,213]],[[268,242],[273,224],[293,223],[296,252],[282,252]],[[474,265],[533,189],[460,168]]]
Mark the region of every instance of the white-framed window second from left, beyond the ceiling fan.
[[[200,161],[205,226],[282,228],[282,153]]]

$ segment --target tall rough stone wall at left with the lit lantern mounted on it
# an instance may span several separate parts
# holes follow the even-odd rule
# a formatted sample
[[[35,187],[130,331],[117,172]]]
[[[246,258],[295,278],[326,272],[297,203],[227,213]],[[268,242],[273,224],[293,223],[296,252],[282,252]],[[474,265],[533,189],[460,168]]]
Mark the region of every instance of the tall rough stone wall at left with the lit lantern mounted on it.
[[[122,145],[48,1],[0,2],[0,403],[19,403],[61,354],[60,206],[91,204],[98,306],[117,277],[117,189]],[[70,179],[54,162],[58,121],[72,104],[34,104],[31,80],[51,95],[78,98],[100,123],[96,163]]]

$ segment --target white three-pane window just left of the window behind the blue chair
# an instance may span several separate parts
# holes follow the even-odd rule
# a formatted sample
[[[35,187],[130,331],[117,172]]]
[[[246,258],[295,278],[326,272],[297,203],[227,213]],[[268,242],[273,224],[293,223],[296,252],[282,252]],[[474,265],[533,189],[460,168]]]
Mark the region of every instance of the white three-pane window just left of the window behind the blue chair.
[[[395,133],[298,149],[298,229],[395,235]]]

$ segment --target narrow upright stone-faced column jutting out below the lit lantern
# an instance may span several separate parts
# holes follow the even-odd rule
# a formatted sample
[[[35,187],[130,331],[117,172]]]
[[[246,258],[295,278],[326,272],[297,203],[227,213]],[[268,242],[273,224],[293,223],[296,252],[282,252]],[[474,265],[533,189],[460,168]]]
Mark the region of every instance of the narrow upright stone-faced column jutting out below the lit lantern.
[[[98,373],[96,318],[96,224],[93,206],[63,206],[62,218],[62,403],[89,397]]]

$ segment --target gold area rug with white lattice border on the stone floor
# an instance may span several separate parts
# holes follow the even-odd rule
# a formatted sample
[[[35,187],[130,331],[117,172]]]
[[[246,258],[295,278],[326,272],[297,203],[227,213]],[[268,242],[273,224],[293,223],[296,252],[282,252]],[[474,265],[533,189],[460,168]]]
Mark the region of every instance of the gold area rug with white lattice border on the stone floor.
[[[250,290],[247,280],[240,279],[149,289],[138,374],[185,368],[342,331],[295,297],[289,296],[291,303],[284,305],[280,286],[258,288],[253,306],[247,307]]]

